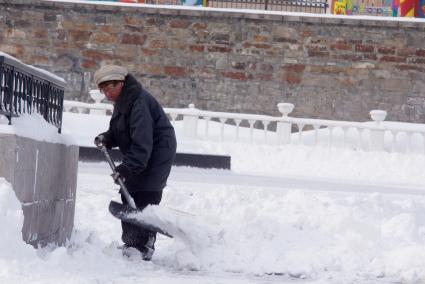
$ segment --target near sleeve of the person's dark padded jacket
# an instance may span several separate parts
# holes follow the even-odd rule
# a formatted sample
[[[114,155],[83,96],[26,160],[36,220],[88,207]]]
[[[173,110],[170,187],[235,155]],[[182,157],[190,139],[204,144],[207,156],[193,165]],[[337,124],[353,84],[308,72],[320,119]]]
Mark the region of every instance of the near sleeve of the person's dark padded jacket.
[[[153,147],[153,119],[144,101],[136,101],[129,121],[130,147],[117,171],[124,178],[140,174],[148,165]]]

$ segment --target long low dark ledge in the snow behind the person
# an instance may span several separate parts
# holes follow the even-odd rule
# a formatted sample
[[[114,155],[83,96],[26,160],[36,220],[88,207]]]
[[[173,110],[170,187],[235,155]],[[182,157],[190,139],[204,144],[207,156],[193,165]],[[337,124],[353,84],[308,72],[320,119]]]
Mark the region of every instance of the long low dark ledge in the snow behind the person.
[[[94,147],[80,147],[79,160],[82,162],[104,162],[103,154]],[[117,149],[110,151],[115,162],[122,160],[122,155]],[[188,166],[204,169],[230,170],[230,156],[177,153],[174,160],[175,166]]]

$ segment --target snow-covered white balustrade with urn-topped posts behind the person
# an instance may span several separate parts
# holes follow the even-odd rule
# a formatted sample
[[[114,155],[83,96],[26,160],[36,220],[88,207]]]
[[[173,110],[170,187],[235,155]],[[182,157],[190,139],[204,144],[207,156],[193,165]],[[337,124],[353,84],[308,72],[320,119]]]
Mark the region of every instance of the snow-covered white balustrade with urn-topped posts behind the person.
[[[90,91],[93,104],[65,101],[65,110],[106,114],[111,104]],[[384,110],[370,111],[371,121],[350,122],[289,117],[294,105],[279,103],[279,117],[206,111],[195,108],[164,108],[179,133],[191,139],[256,144],[298,144],[343,147],[371,151],[425,153],[425,124],[386,122]]]

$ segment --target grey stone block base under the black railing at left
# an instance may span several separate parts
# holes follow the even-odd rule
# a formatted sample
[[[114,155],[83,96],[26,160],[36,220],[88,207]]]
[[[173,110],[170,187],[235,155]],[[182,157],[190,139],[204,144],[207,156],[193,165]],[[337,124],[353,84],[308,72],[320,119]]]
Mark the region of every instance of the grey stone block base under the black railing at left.
[[[0,176],[22,204],[24,241],[65,244],[74,224],[78,146],[0,134],[0,157]]]

